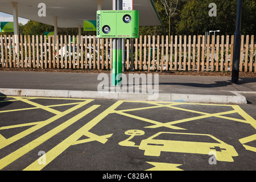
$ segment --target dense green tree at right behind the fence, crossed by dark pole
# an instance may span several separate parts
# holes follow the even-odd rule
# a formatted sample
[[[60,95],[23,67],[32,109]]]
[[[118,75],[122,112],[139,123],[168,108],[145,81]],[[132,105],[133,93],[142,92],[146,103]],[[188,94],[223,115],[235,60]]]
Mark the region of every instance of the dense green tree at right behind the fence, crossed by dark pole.
[[[244,0],[242,4],[242,34],[256,33],[256,0]],[[217,6],[217,16],[209,16],[210,3]],[[222,35],[233,35],[236,27],[237,0],[190,0],[180,14],[176,32],[181,35],[202,35],[206,31],[220,30]]]

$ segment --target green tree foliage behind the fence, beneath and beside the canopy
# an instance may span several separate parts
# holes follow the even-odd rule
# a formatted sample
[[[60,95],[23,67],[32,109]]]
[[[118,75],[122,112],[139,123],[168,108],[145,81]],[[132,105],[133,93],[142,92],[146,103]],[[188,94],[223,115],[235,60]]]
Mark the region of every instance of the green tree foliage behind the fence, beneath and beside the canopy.
[[[167,0],[171,1],[171,0]],[[172,0],[174,1],[174,0]],[[162,21],[162,26],[140,27],[139,35],[168,35],[169,18],[160,0],[153,0]],[[175,5],[176,5],[176,1]],[[220,30],[220,35],[233,35],[236,27],[237,0],[177,0],[177,8],[170,18],[171,35],[204,35],[210,30]],[[217,16],[209,16],[210,3],[217,6]],[[241,32],[243,35],[256,34],[256,0],[242,1]],[[28,21],[19,24],[22,35],[44,35],[53,31],[53,26]],[[58,35],[78,35],[78,28],[58,28]],[[82,35],[96,35],[95,31],[81,31]],[[1,34],[13,35],[13,32]]]

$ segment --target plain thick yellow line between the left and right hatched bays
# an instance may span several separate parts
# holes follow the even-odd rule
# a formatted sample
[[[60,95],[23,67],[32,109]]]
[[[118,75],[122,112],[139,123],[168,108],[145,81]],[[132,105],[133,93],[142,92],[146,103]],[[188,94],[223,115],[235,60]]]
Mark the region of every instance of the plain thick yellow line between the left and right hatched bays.
[[[43,134],[39,138],[36,138],[32,142],[26,144],[23,147],[20,147],[18,150],[14,151],[13,153],[7,155],[5,158],[0,160],[0,169],[8,166],[10,163],[13,163],[16,159],[19,159],[24,154],[27,154],[27,152],[33,150],[35,147],[39,146],[43,142],[46,142],[48,139],[52,138],[54,135],[60,133],[60,131],[63,131],[68,126],[72,125],[73,123],[77,122],[79,119],[84,117],[86,114],[89,114],[94,109],[97,109],[100,105],[93,105],[89,107],[88,109],[82,111],[81,113],[77,114],[75,117],[68,119],[68,121],[62,123],[61,125],[55,127],[51,131],[48,131],[46,134]]]

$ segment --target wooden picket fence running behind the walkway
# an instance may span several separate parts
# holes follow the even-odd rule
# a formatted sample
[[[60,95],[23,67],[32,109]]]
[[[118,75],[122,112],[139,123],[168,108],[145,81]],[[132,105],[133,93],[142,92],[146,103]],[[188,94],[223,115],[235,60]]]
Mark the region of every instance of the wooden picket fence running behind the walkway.
[[[241,38],[240,71],[256,72],[254,35]],[[79,36],[70,35],[56,36],[56,40],[54,36],[1,35],[0,67],[112,69],[112,42],[96,36],[81,36],[79,43]],[[233,35],[125,39],[125,69],[232,71],[233,43]]]

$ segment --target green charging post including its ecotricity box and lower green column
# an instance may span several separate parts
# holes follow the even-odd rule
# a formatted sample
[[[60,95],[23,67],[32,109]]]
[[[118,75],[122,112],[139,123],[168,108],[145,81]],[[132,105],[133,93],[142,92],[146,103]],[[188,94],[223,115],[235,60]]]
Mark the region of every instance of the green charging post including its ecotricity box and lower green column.
[[[101,10],[97,11],[97,38],[138,38],[139,11]],[[118,42],[120,44],[120,41]],[[122,49],[113,48],[112,84],[118,85],[122,73]]]

